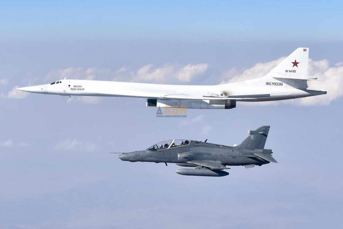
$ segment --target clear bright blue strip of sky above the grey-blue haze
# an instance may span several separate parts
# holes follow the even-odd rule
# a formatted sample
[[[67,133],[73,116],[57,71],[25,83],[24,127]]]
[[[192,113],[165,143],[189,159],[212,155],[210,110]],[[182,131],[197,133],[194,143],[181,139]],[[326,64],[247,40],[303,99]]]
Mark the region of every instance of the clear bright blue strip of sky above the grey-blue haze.
[[[2,40],[342,39],[341,1],[2,2]]]

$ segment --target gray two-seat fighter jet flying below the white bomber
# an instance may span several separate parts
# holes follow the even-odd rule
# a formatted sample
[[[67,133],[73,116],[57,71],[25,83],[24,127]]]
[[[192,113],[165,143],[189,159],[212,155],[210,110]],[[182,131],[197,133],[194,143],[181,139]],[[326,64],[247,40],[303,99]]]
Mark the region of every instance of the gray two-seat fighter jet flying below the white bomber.
[[[121,153],[119,159],[130,162],[176,163],[183,167],[176,171],[188,176],[226,176],[228,166],[244,165],[246,168],[277,163],[272,150],[264,149],[270,126],[249,130],[249,137],[241,144],[226,146],[193,140],[167,140],[146,150]]]

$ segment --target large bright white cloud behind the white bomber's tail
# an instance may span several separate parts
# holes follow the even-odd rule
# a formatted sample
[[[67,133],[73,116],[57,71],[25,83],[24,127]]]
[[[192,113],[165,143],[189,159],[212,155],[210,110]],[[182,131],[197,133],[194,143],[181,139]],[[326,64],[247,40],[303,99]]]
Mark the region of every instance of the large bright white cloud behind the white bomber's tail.
[[[229,69],[224,74],[222,83],[241,81],[247,79],[253,79],[265,76],[268,74],[277,64],[283,61],[285,57],[281,57],[274,61],[267,63],[257,63],[251,68],[245,69],[239,72],[236,68]],[[308,75],[315,76],[319,80],[308,80],[309,90],[322,90],[328,91],[327,95],[313,96],[307,98],[300,98],[295,100],[285,101],[273,101],[273,102],[259,102],[259,105],[276,105],[280,102],[295,103],[299,105],[328,105],[334,99],[343,96],[343,62],[339,62],[330,67],[327,59],[320,61],[314,61],[309,59]]]

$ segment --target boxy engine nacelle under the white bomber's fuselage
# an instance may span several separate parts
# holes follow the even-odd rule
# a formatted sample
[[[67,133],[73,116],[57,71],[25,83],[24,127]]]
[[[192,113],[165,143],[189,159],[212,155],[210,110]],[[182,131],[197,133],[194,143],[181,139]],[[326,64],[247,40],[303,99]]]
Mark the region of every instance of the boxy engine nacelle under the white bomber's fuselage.
[[[236,100],[183,100],[183,99],[147,99],[147,107],[176,107],[180,109],[232,109]]]

